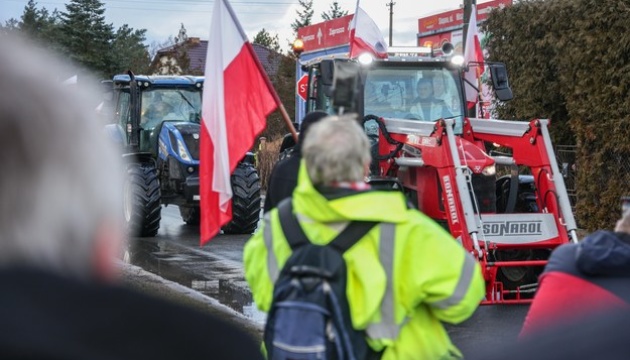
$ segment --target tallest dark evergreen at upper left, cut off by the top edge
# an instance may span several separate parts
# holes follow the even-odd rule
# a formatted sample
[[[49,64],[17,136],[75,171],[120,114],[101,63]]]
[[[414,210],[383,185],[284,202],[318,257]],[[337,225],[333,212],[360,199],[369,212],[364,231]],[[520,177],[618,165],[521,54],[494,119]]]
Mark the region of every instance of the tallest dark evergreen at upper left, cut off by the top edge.
[[[114,31],[104,13],[99,0],[70,0],[61,13],[61,44],[70,59],[109,78],[115,72]]]

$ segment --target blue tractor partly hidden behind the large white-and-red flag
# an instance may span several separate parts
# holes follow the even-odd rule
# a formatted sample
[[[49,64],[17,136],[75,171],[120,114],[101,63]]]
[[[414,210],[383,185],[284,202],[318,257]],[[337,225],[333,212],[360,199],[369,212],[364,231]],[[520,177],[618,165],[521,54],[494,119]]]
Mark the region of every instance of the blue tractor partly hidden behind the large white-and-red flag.
[[[199,135],[204,78],[116,75],[107,126],[126,159],[124,218],[132,236],[155,236],[161,206],[176,205],[198,225]],[[251,234],[260,214],[260,179],[248,153],[232,174],[232,221],[224,233]]]

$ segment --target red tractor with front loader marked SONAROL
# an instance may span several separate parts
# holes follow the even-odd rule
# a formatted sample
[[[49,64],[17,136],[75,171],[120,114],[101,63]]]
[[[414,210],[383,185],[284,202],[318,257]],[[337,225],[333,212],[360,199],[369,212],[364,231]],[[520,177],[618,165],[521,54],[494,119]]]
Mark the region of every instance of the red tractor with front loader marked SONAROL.
[[[370,183],[403,191],[478,259],[482,303],[527,303],[550,252],[577,241],[549,121],[468,117],[466,67],[451,50],[302,63],[306,111],[358,113],[373,142]],[[496,97],[510,100],[505,65],[486,66]]]

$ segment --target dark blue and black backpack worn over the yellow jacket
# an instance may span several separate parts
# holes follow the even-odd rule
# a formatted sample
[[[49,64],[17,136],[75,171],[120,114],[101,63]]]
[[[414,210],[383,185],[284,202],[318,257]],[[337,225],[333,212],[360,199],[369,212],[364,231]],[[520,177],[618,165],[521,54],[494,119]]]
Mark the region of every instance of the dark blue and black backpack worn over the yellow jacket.
[[[365,331],[352,327],[342,254],[376,222],[351,222],[325,246],[312,244],[293,214],[291,198],[278,205],[282,231],[292,249],[274,285],[265,324],[269,360],[377,359]]]

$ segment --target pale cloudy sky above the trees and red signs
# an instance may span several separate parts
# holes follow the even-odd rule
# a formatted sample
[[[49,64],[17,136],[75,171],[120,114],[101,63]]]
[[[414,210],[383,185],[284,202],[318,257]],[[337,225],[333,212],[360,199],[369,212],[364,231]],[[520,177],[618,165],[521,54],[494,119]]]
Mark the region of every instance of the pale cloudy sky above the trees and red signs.
[[[105,4],[105,20],[115,28],[128,24],[134,29],[147,30],[147,44],[164,42],[177,35],[183,23],[189,37],[208,39],[214,0],[101,0]],[[38,1],[38,7],[65,11],[66,0]],[[330,8],[333,0],[315,0],[313,23],[321,22],[321,13]],[[362,0],[363,8],[389,39],[390,0]],[[478,3],[486,2],[485,0]],[[10,18],[19,19],[28,0],[0,0],[0,23]],[[339,0],[340,7],[354,13],[356,0]],[[415,45],[418,18],[442,11],[454,10],[463,0],[395,0],[393,44]],[[292,37],[290,24],[300,10],[298,0],[232,0],[230,4],[250,39],[262,28],[278,34],[283,49]]]

